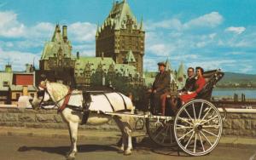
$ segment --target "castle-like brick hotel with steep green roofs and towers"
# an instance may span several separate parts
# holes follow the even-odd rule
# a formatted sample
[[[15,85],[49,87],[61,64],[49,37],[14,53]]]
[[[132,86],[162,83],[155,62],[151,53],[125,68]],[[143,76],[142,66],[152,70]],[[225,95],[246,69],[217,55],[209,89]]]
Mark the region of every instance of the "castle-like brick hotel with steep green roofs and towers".
[[[72,54],[72,43],[67,37],[67,26],[55,26],[51,40],[44,45],[36,77],[45,74],[51,81],[60,81],[75,88],[84,89],[95,85],[110,85],[114,82],[150,84],[153,77],[143,73],[145,31],[143,20],[137,23],[128,3],[113,3],[113,8],[102,25],[96,29],[96,57]],[[168,62],[168,63],[167,63]],[[173,71],[169,60],[174,90],[184,82],[183,68]],[[147,75],[146,75],[147,76]],[[149,79],[149,80],[148,80]],[[37,81],[37,83],[39,80]]]

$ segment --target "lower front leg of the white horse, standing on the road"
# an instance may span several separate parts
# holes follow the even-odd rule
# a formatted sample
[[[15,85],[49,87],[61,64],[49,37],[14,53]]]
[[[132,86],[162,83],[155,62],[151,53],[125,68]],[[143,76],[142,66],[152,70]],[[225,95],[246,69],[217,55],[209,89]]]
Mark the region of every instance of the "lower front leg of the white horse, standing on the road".
[[[71,140],[71,148],[67,155],[67,159],[74,159],[76,153],[78,152],[77,149],[77,140],[78,140],[78,128],[79,123],[68,123],[69,135]]]

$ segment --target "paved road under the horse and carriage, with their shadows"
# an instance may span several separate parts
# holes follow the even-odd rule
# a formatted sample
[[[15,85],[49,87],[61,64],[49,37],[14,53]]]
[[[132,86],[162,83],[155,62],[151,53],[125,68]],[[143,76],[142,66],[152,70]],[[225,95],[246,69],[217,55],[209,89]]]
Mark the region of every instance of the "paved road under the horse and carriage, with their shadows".
[[[58,160],[65,159],[65,154],[69,150],[69,139],[65,138],[45,138],[28,136],[0,136],[0,159],[1,160]],[[230,148],[217,146],[210,154],[203,157],[189,157],[181,153],[177,155],[176,149],[158,148],[148,140],[137,144],[131,156],[123,156],[117,153],[117,146],[113,141],[80,140],[78,160],[84,159],[124,159],[124,160],[256,160],[256,146],[243,148]]]

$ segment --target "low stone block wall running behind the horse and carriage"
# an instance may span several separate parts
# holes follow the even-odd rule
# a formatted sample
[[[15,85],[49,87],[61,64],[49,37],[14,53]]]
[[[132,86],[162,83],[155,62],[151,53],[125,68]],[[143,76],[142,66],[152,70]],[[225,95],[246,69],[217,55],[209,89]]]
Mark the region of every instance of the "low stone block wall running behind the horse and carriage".
[[[43,129],[67,129],[56,110],[0,108],[0,126]],[[118,130],[113,121],[90,126],[79,125],[79,129]],[[256,137],[256,113],[228,113],[224,120],[223,135]]]

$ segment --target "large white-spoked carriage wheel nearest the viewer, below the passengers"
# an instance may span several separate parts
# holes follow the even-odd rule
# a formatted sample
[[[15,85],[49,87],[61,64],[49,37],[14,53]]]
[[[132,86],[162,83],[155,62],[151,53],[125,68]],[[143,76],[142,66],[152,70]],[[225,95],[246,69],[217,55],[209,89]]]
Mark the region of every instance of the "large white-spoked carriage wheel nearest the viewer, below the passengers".
[[[174,120],[177,145],[192,156],[206,155],[218,145],[222,117],[207,100],[191,100],[180,108]]]

